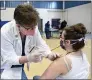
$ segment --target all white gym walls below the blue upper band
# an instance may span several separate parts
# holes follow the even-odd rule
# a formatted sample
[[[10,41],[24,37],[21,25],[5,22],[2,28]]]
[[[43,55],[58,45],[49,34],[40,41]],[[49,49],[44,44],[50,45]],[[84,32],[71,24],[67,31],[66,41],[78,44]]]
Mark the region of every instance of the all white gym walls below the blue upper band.
[[[91,6],[92,3],[80,5],[77,7],[72,7],[62,12],[60,10],[51,10],[51,9],[37,9],[39,12],[40,18],[43,19],[43,30],[44,25],[47,21],[51,21],[52,18],[61,18],[65,19],[68,22],[68,25],[83,23],[88,32],[92,30],[92,19],[91,19]],[[6,10],[1,10],[1,20],[10,21],[13,19],[14,8],[6,8]],[[50,22],[51,23],[51,22]]]

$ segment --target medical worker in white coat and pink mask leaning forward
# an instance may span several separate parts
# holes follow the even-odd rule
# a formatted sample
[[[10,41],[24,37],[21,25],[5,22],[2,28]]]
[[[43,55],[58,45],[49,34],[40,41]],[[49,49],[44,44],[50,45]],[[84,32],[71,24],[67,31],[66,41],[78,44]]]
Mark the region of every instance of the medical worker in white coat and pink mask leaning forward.
[[[24,63],[40,62],[43,57],[54,60],[52,54],[38,31],[38,12],[28,4],[18,5],[14,20],[1,28],[1,79],[27,79]],[[50,53],[50,54],[49,54]]]

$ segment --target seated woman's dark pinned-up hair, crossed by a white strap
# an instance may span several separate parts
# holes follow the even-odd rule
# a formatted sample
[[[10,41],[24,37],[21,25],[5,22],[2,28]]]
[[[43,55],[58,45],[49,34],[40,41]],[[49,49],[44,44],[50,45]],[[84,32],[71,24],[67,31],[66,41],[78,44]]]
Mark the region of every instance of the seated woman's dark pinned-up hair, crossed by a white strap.
[[[85,34],[87,33],[87,30],[82,23],[66,27],[64,28],[64,31],[66,32],[64,35],[65,40],[70,40],[71,43],[75,43],[72,45],[75,51],[78,51],[85,46],[84,39],[81,41],[78,40],[80,38],[85,38]]]

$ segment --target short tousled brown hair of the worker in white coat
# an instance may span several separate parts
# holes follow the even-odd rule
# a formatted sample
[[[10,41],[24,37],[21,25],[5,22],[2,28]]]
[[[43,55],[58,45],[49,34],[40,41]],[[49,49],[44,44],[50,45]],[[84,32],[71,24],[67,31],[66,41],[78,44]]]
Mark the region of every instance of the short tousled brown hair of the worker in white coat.
[[[20,25],[37,25],[38,12],[29,4],[18,5],[14,11],[14,19]]]

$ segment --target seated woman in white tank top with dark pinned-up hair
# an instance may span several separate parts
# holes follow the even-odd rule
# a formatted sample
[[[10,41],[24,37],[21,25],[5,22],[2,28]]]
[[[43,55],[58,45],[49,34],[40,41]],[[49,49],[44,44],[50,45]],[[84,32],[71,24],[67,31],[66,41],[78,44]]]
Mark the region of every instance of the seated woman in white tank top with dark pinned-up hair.
[[[64,28],[60,46],[67,54],[53,61],[39,79],[87,79],[90,64],[82,51],[86,32],[82,23]]]

